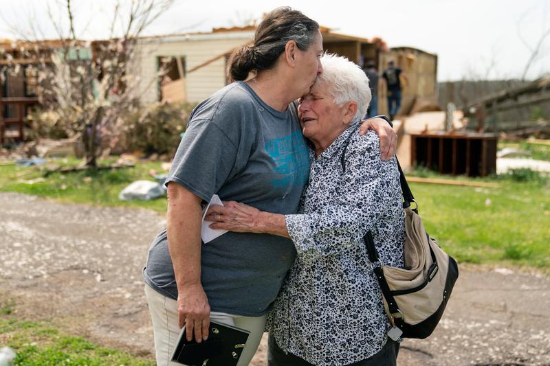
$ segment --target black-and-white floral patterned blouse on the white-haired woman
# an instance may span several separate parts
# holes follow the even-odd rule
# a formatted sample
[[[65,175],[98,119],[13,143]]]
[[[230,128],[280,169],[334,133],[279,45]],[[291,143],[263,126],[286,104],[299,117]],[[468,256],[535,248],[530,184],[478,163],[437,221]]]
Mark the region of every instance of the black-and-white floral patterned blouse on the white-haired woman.
[[[386,344],[390,325],[362,239],[366,231],[384,264],[403,266],[397,163],[381,161],[378,135],[360,136],[359,126],[319,157],[309,151],[300,214],[286,216],[298,255],[267,323],[282,350],[319,366],[362,361]]]

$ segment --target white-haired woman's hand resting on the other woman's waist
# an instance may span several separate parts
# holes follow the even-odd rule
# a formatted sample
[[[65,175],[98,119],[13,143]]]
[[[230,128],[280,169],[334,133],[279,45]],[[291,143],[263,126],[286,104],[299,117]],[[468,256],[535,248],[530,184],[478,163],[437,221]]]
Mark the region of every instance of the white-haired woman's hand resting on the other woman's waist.
[[[212,229],[223,229],[237,233],[258,232],[259,209],[235,201],[224,201],[223,206],[212,205],[208,208],[205,220],[214,222]]]

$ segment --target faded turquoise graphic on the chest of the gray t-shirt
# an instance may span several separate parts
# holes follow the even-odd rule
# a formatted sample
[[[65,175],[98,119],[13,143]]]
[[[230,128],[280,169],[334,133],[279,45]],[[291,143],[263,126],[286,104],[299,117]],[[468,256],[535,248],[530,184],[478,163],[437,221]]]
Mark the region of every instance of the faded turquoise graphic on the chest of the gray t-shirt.
[[[281,174],[271,181],[274,187],[305,185],[309,176],[309,155],[301,133],[272,139],[265,144],[265,150],[275,161],[275,172]]]

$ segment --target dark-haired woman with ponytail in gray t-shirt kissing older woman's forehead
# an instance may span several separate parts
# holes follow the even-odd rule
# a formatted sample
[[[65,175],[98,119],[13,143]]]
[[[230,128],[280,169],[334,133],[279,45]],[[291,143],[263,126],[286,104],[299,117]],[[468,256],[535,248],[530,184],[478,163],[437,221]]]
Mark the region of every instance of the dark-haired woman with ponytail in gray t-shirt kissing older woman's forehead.
[[[210,319],[250,331],[238,365],[248,365],[288,269],[292,240],[228,232],[203,244],[204,203],[214,194],[277,214],[296,214],[309,176],[309,156],[294,100],[322,73],[316,21],[277,8],[256,30],[254,44],[234,53],[232,84],[201,102],[189,117],[168,174],[168,214],[143,270],[158,365],[170,361],[181,327],[208,338]],[[382,157],[397,136],[383,119],[364,122],[380,135]]]

